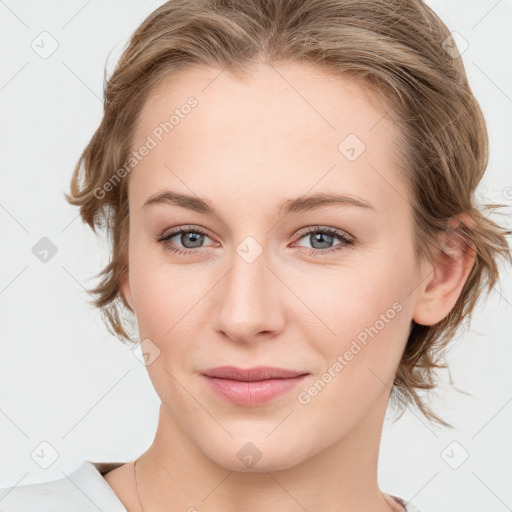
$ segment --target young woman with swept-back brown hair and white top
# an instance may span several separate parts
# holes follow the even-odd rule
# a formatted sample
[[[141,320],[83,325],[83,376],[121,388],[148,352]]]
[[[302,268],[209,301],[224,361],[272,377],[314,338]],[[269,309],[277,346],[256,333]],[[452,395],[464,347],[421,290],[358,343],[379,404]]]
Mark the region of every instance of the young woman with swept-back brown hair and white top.
[[[418,511],[378,486],[386,409],[447,425],[418,391],[510,261],[453,49],[419,0],[181,0],[141,24],[68,200],[111,236],[95,305],[124,342],[136,317],[155,439],[2,510]]]

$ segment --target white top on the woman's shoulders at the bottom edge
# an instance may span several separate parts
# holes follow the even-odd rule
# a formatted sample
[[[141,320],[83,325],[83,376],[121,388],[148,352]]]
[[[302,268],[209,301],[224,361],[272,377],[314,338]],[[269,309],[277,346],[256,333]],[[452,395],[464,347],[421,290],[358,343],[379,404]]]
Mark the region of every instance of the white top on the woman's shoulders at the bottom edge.
[[[0,489],[0,512],[127,512],[103,478],[124,462],[84,461],[67,477]],[[390,494],[405,512],[420,512],[412,503]]]

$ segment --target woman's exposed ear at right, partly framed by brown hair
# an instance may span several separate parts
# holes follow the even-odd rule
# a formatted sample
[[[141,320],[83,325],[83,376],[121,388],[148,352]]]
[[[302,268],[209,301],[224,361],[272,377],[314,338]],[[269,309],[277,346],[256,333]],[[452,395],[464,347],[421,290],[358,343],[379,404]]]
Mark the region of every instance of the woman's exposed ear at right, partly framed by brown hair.
[[[474,244],[465,236],[464,226],[471,227],[471,218],[460,215],[452,219],[448,229],[439,235],[435,262],[423,266],[421,284],[413,320],[420,325],[434,325],[445,318],[455,306],[476,258]]]

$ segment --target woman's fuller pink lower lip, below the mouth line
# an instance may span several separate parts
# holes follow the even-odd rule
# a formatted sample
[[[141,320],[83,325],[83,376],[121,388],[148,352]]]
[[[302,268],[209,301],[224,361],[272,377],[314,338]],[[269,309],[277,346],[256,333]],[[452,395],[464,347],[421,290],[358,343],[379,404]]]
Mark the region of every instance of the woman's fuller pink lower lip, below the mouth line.
[[[237,405],[260,405],[293,389],[307,375],[290,379],[268,379],[254,382],[217,379],[204,375],[210,389]]]

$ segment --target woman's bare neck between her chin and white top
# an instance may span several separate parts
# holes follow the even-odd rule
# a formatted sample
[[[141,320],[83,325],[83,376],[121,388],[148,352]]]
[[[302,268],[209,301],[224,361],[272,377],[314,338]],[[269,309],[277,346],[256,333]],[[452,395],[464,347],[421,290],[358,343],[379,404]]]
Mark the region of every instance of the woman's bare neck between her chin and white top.
[[[401,510],[377,483],[385,392],[341,440],[287,469],[235,472],[208,457],[181,430],[164,404],[155,439],[137,461],[144,511],[355,512]],[[320,426],[321,430],[329,426]]]

